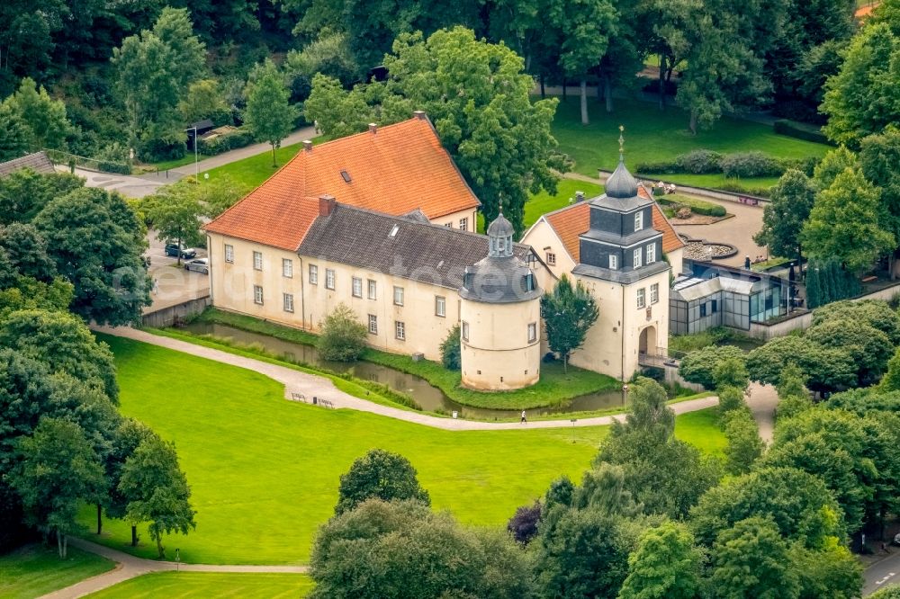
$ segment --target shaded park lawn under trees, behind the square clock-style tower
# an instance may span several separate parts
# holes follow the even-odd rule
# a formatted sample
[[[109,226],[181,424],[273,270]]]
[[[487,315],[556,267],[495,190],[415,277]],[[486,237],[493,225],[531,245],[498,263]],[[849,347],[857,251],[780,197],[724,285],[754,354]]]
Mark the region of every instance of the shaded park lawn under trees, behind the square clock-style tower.
[[[607,113],[603,106],[590,102],[590,125],[581,125],[579,99],[570,97],[556,110],[553,133],[560,143],[560,150],[575,160],[576,173],[597,176],[597,169],[612,170],[618,162],[618,126],[625,125],[625,152],[627,165],[636,171],[636,165],[644,162],[671,160],[692,149],[706,148],[718,152],[760,150],[772,156],[803,158],[824,156],[830,149],[802,139],[776,134],[768,125],[723,117],[712,130],[698,131],[696,136],[688,130],[688,114],[670,106],[665,112],[654,103],[626,102],[618,100],[616,110]],[[721,175],[661,175],[660,178],[678,180],[685,184],[716,183],[713,177]],[[703,178],[699,178],[703,177]],[[770,179],[743,179],[750,187],[770,185]]]

